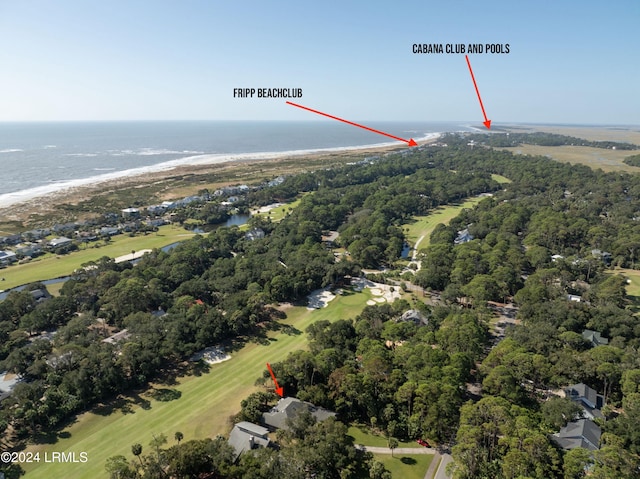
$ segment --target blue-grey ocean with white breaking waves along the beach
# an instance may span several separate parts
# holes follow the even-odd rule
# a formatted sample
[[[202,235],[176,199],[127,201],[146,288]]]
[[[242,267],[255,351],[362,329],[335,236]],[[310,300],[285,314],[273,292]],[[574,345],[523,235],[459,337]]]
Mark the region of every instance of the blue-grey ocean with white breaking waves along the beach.
[[[471,131],[462,123],[371,122],[415,140]],[[0,123],[0,207],[47,193],[177,165],[400,144],[337,121]]]

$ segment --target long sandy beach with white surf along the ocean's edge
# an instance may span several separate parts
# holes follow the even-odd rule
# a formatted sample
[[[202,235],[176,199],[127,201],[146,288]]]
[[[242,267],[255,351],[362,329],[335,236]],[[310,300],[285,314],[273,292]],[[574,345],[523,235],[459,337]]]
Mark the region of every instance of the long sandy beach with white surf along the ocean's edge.
[[[424,145],[437,141],[442,134],[440,132],[428,133],[415,140],[419,145]],[[314,150],[187,156],[155,165],[6,193],[0,195],[0,217],[3,217],[5,221],[24,222],[34,213],[46,213],[55,206],[62,204],[77,204],[103,191],[149,185],[182,175],[204,175],[251,163],[268,164],[295,158],[319,159],[324,156],[348,155],[351,153],[381,154],[399,148],[406,148],[406,146],[394,141],[373,145]]]

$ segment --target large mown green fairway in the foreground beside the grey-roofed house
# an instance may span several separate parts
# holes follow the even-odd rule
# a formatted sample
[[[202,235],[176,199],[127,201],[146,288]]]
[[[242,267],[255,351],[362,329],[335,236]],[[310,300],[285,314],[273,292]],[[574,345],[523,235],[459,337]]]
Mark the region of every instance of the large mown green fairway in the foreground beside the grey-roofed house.
[[[357,294],[338,296],[329,306],[309,311],[306,307],[287,310],[284,323],[300,331],[300,334],[285,332],[270,333],[269,344],[250,343],[231,354],[231,359],[212,365],[200,376],[178,379],[174,385],[158,385],[169,388],[178,399],[160,402],[147,394],[129,397],[128,405],[113,411],[108,408],[80,415],[76,422],[58,434],[51,444],[30,446],[30,451],[63,451],[76,454],[87,452],[85,464],[35,464],[25,465],[28,479],[65,477],[107,477],[105,461],[108,457],[122,454],[133,459],[131,445],[143,445],[143,454],[152,434],[166,434],[169,445],[173,444],[176,431],[184,434],[185,440],[214,437],[227,434],[231,428],[230,417],[240,410],[240,401],[258,388],[255,380],[265,370],[266,362],[278,362],[295,350],[307,345],[304,330],[313,322],[327,319],[355,317],[366,305],[371,295],[368,290]],[[285,391],[286,393],[286,391]]]

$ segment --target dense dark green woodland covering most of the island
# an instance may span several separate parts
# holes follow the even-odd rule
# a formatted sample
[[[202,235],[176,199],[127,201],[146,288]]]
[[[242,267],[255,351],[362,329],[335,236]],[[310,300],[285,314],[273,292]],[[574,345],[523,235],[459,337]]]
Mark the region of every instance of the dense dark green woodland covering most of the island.
[[[60,297],[42,303],[29,291],[11,293],[0,303],[0,359],[25,381],[2,403],[4,440],[15,444],[60,427],[79,411],[171,374],[206,346],[263,334],[265,325],[277,326],[278,302],[343,285],[361,268],[400,269],[403,225],[413,216],[493,193],[437,227],[420,254],[421,269],[403,276],[438,292],[441,302],[415,296],[318,322],[309,329],[309,351],[272,365],[288,395],[336,411],[339,421],[302,418],[279,438],[280,451],[243,455],[235,465],[217,440],[166,449],[159,441],[146,462],[134,452],[133,463],[195,477],[184,461],[197,461],[184,458],[200,454],[198,473],[217,477],[383,477],[366,472],[379,467],[349,443],[343,422],[358,421],[390,438],[452,447],[460,479],[569,479],[587,471],[637,477],[640,323],[626,279],[612,268],[636,268],[640,177],[516,157],[479,146],[501,141],[498,135],[474,138],[475,146],[468,136],[449,135],[446,147],[303,173],[260,190],[256,202],[311,192],[279,223],[252,218],[249,227],[263,230],[262,239],[219,228],[136,266],[106,258],[86,265]],[[491,174],[511,183],[500,185]],[[468,241],[456,242],[465,229]],[[336,260],[322,243],[329,230],[339,231],[348,258]],[[518,308],[517,324],[497,345],[488,301]],[[398,320],[410,308],[422,323]],[[107,328],[126,328],[130,337],[105,343]],[[37,336],[54,329],[53,340]],[[585,330],[607,343],[593,345]],[[479,394],[471,383],[481,386]],[[564,451],[550,438],[578,414],[551,391],[574,383],[604,397],[593,453]],[[238,420],[255,420],[274,397],[245,399]],[[112,477],[138,477],[131,464],[113,458],[120,475]]]

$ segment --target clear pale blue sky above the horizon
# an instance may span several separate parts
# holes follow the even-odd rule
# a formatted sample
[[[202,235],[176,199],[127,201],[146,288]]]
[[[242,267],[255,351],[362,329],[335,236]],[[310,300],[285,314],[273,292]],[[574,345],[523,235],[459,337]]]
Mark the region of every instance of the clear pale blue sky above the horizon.
[[[548,5],[548,6],[542,6]],[[0,0],[0,121],[478,121],[640,124],[640,1]]]

